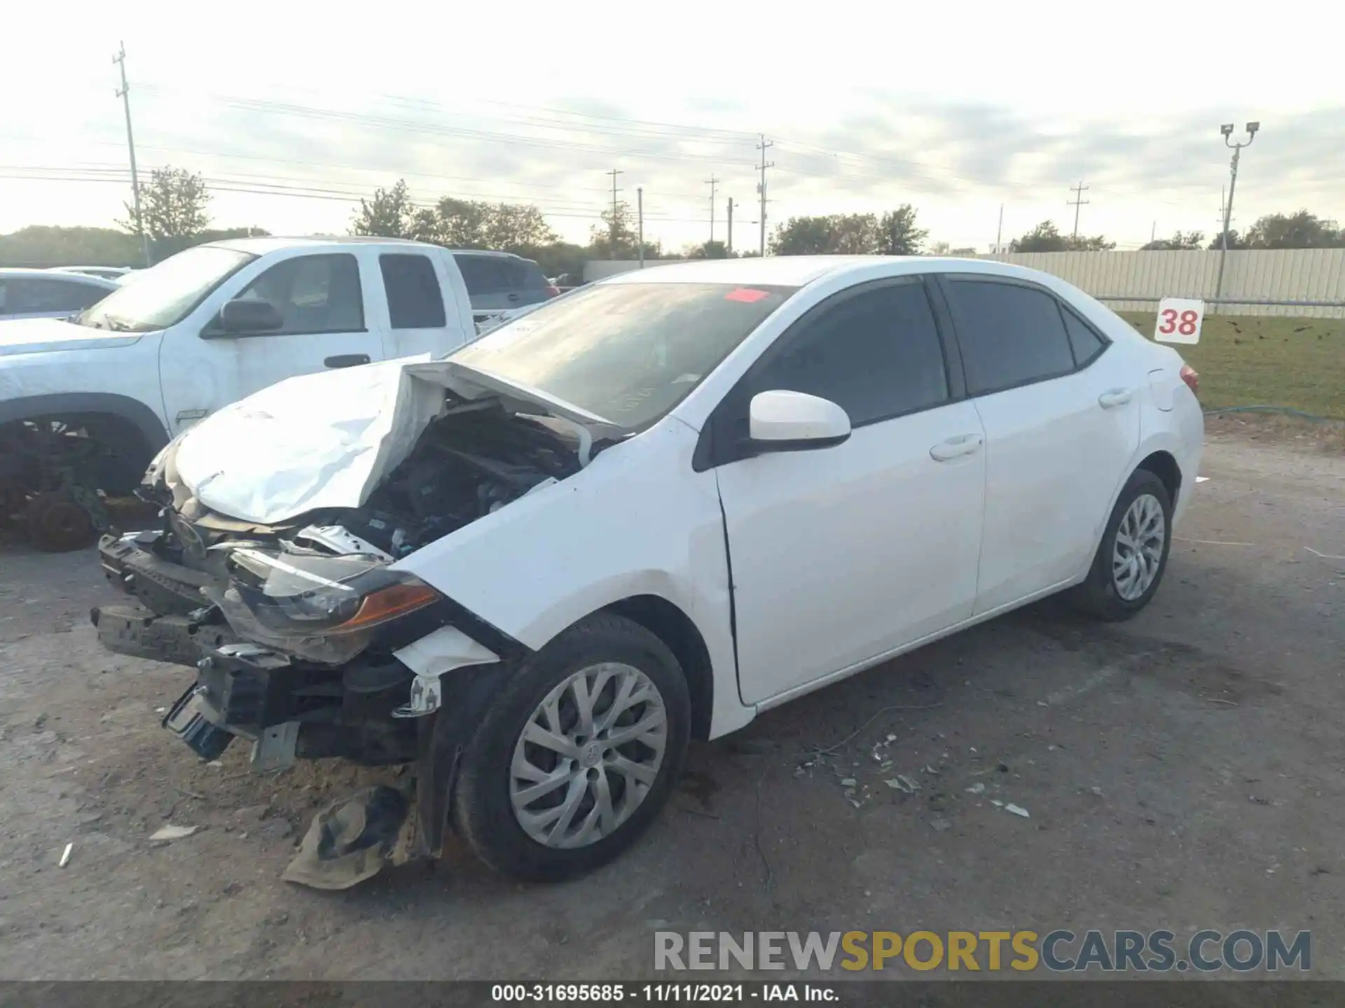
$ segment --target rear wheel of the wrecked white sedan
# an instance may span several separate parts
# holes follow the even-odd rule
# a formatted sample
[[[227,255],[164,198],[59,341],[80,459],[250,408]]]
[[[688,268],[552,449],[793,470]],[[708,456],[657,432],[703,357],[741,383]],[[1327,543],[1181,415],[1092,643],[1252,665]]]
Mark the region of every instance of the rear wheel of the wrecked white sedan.
[[[1171,499],[1147,469],[1131,473],[1103,530],[1088,578],[1072,598],[1100,620],[1128,620],[1154,597],[1171,548]]]

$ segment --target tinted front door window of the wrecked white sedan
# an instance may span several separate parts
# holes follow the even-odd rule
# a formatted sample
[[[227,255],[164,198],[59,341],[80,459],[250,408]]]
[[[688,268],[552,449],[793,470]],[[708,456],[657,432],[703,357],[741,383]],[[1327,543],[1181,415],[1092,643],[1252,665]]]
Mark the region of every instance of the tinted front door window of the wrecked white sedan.
[[[783,388],[830,399],[862,426],[948,399],[943,344],[919,277],[824,305],[746,379],[748,399]]]

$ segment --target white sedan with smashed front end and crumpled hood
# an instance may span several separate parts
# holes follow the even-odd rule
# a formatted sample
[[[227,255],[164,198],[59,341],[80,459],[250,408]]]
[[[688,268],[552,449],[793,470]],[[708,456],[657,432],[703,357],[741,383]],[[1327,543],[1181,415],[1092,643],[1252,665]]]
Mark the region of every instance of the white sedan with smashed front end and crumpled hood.
[[[159,612],[172,564],[206,585],[167,719],[198,754],[413,763],[422,852],[452,823],[558,879],[650,825],[690,738],[1057,591],[1143,609],[1202,433],[1181,358],[1056,277],[705,261],[222,410],[104,564]]]

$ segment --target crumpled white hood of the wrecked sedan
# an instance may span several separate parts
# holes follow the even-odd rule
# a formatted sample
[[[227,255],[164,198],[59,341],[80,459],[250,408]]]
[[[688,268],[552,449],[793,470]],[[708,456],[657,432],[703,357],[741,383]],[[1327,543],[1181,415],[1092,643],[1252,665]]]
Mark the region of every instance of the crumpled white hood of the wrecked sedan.
[[[593,431],[620,430],[535,390],[424,355],[273,384],[200,421],[156,462],[171,460],[165,477],[202,505],[260,526],[358,508],[410,454],[443,410],[445,390],[464,399],[498,395]]]

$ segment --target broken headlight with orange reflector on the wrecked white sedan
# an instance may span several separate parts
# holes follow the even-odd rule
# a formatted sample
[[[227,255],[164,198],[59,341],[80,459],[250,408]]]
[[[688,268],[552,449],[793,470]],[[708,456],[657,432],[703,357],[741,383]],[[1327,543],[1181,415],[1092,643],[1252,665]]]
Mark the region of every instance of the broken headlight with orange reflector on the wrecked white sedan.
[[[258,644],[328,665],[350,661],[386,622],[440,599],[374,556],[284,556],[241,548],[230,582],[210,593],[229,625]]]

